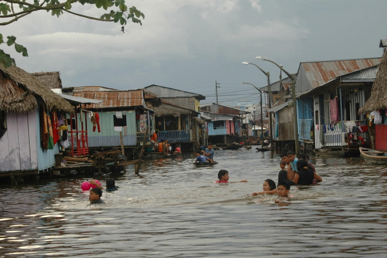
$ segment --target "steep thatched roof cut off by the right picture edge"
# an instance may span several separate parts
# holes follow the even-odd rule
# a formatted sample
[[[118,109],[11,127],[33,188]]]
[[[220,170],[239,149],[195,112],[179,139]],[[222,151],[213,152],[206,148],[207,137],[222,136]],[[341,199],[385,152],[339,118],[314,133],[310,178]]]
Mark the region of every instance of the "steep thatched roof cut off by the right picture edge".
[[[371,96],[359,109],[359,113],[372,112],[377,109],[387,108],[387,51],[381,58],[379,71],[372,85]]]

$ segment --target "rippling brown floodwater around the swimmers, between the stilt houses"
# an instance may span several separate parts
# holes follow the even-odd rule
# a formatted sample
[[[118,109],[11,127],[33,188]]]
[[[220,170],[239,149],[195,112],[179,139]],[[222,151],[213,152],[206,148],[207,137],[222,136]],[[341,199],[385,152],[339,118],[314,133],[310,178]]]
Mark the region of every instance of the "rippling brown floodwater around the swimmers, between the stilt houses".
[[[294,198],[251,197],[277,181],[280,158],[240,149],[216,152],[214,167],[194,156],[146,160],[112,177],[120,188],[90,205],[63,178],[2,187],[0,257],[382,257],[386,256],[387,168],[360,159],[311,157],[324,179],[292,187]],[[230,181],[214,184],[220,169]]]

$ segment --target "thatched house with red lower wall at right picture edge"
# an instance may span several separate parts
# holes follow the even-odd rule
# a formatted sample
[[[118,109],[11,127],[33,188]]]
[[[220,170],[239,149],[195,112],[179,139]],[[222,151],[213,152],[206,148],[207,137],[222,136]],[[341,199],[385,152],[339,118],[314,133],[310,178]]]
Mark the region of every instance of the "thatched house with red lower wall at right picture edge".
[[[376,79],[372,85],[371,96],[365,102],[364,106],[359,109],[359,115],[366,115],[371,139],[372,149],[387,151],[387,39],[381,39],[379,47],[383,48],[383,56],[380,62],[379,70],[376,74]],[[380,119],[376,118],[377,113]],[[372,119],[372,115],[373,116]],[[371,122],[369,122],[371,120]]]

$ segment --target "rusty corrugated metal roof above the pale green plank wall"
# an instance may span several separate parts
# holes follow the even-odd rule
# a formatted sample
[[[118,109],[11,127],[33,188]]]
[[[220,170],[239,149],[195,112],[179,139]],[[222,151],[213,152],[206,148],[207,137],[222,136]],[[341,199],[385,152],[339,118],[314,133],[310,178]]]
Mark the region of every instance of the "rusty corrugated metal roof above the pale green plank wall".
[[[102,100],[102,103],[87,105],[86,108],[144,106],[143,90],[130,91],[85,91],[74,92],[75,97]]]

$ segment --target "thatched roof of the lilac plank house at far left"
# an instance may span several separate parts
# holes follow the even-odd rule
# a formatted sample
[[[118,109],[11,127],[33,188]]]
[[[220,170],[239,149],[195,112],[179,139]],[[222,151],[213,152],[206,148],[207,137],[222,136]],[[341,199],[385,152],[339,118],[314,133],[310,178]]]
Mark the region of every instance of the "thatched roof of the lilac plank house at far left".
[[[74,112],[73,106],[59,95],[42,86],[26,71],[11,66],[5,69],[0,65],[0,110],[13,113],[30,112],[38,107],[41,98],[48,110]]]

